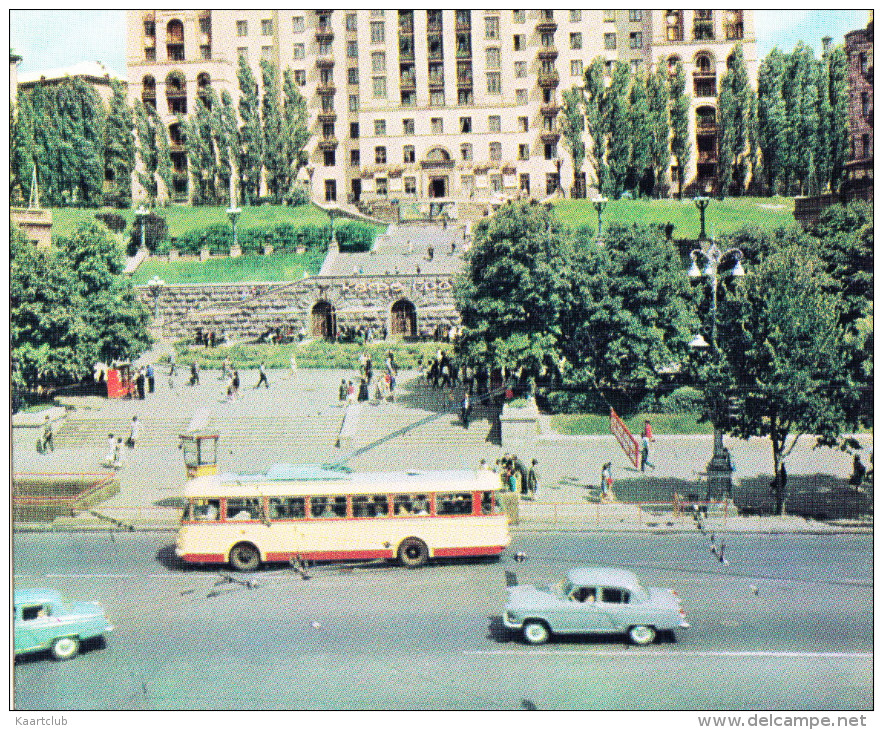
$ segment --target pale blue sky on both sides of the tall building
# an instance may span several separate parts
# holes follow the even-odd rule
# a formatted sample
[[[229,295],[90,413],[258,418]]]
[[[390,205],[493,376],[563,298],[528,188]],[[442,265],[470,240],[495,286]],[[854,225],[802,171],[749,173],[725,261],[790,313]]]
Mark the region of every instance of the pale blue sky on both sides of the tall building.
[[[758,58],[774,46],[791,51],[797,41],[821,54],[821,38],[843,42],[868,22],[867,10],[755,10]],[[20,73],[101,61],[126,75],[126,14],[123,10],[10,10],[9,45],[23,57]]]

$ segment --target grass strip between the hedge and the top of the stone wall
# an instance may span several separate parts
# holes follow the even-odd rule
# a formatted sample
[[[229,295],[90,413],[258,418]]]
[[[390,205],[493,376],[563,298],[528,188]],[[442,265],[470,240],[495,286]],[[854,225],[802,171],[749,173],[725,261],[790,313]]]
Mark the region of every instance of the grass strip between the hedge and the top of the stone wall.
[[[319,273],[322,252],[280,253],[270,256],[244,254],[238,258],[208,261],[162,261],[148,259],[132,275],[133,284],[145,284],[154,276],[167,284],[205,284],[240,281],[296,281],[306,271]],[[223,359],[223,358],[222,358]]]

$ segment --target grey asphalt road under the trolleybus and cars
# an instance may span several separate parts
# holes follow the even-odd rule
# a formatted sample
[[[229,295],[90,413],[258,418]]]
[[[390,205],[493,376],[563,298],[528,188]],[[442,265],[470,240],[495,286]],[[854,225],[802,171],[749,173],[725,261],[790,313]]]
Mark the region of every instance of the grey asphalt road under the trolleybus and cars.
[[[872,537],[723,540],[729,565],[699,533],[521,533],[500,561],[269,568],[248,589],[177,564],[172,533],[16,534],[17,587],[100,600],[117,629],[73,661],[17,660],[14,707],[872,709]],[[674,588],[692,628],[646,648],[506,635],[505,571],[587,562]]]

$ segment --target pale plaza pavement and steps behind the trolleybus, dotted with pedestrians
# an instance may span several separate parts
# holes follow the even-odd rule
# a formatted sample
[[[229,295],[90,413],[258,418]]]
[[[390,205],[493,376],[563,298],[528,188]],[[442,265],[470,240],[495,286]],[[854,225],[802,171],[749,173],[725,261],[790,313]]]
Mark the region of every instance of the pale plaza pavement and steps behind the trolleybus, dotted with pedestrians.
[[[442,415],[346,462],[355,470],[474,469],[481,459],[493,464],[514,451],[529,466],[539,461],[541,481],[535,501],[522,501],[515,529],[692,530],[692,514],[672,509],[672,494],[704,499],[703,472],[712,448],[711,436],[658,435],[651,453],[655,468],[641,474],[627,460],[613,436],[562,436],[546,428],[534,443],[501,447],[489,411],[476,408],[468,430],[456,413],[445,412],[459,402],[459,391],[433,390],[414,371],[402,372],[395,403],[368,402],[354,409],[340,441],[345,407],[338,399],[341,379],[355,370],[269,371],[270,387],[255,389],[256,371],[242,371],[242,397],[226,402],[217,371],[203,371],[200,384],[188,386],[189,371],[174,378],[160,366],[156,391],[145,400],[67,399],[66,413],[53,411],[57,435],[54,452],[40,455],[34,443],[42,414],[13,418],[13,472],[107,473],[100,462],[107,452],[107,434],[125,438],[133,415],[142,422],[138,446],[125,450],[118,470],[120,491],[95,507],[102,515],[142,529],[173,528],[179,517],[185,481],[178,434],[188,428],[216,429],[220,434],[221,471],[257,473],[274,463],[325,463],[344,459],[354,450],[426,418]],[[73,408],[71,408],[73,406]],[[862,436],[866,449],[872,436]],[[737,484],[768,484],[771,478],[769,441],[725,439],[735,466]],[[789,483],[812,478],[842,489],[851,473],[851,457],[835,449],[813,449],[801,439],[787,460]],[[613,462],[619,502],[600,504],[597,484],[601,466]],[[662,495],[662,497],[660,497]],[[707,524],[718,531],[836,532],[872,529],[864,520],[807,520],[794,516],[737,516],[732,503],[709,511]],[[112,523],[88,513],[57,518],[54,529],[106,529]],[[16,525],[16,529],[26,529]],[[38,528],[39,526],[31,526]]]

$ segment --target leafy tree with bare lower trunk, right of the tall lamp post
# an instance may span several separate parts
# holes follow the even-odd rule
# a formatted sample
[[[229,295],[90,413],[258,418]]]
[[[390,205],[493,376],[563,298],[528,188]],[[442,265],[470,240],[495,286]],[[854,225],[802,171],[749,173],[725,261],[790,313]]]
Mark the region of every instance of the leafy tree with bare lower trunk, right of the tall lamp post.
[[[725,430],[770,438],[777,512],[786,497],[782,463],[797,439],[815,434],[833,445],[855,422],[843,302],[829,284],[819,259],[786,246],[752,267],[719,310],[714,369],[735,406]]]

